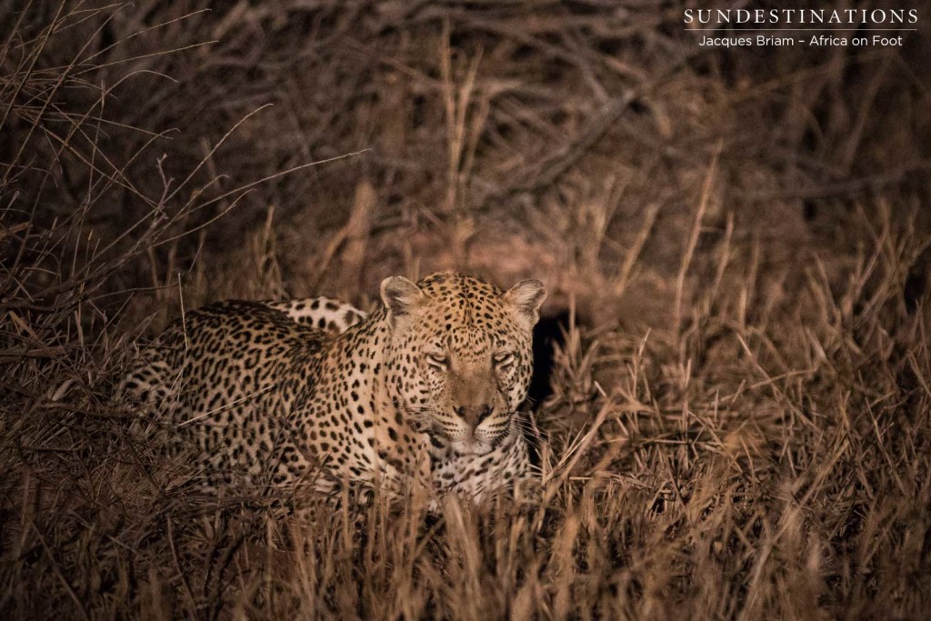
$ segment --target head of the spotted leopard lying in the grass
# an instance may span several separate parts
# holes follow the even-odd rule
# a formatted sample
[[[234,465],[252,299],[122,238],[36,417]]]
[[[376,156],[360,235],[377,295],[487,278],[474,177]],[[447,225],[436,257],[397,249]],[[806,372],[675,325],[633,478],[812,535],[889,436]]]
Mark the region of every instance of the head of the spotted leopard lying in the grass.
[[[504,291],[437,274],[418,283],[386,278],[381,293],[392,398],[412,425],[453,451],[492,451],[527,396],[543,283],[523,280]]]

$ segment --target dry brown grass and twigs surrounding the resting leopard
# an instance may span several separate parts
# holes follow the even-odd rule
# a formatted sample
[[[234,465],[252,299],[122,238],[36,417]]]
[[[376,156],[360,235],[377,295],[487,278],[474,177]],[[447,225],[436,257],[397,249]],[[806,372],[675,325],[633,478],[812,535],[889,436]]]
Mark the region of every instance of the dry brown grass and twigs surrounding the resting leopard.
[[[927,33],[173,5],[0,16],[5,618],[929,609]],[[299,519],[128,434],[113,380],[182,308],[442,267],[551,291],[539,497]]]

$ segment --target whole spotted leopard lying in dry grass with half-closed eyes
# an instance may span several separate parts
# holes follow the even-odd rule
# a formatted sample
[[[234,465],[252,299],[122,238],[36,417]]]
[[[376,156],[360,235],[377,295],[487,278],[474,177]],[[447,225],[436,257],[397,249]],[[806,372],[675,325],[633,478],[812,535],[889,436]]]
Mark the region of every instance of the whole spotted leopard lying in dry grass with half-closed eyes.
[[[389,277],[381,297],[368,317],[326,299],[211,304],[143,350],[125,388],[196,446],[211,481],[480,501],[527,479],[517,409],[543,284]]]

